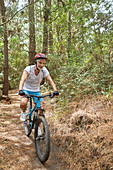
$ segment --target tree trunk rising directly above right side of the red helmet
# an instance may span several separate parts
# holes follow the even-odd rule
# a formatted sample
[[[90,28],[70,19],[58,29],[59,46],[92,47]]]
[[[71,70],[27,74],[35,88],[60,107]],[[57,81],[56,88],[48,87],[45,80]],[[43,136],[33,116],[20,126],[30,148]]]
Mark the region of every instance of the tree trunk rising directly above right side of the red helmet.
[[[44,54],[48,52],[48,0],[45,0],[42,52]]]

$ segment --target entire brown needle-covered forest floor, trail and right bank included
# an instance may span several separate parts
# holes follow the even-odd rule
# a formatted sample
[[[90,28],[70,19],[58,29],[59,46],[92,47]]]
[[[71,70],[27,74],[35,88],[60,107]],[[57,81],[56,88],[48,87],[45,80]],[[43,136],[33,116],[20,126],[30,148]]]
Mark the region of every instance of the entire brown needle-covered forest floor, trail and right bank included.
[[[113,170],[113,97],[87,96],[59,114],[55,100],[46,100],[51,154],[42,165],[33,133],[27,137],[20,121],[20,96],[9,93],[0,102],[0,170]]]

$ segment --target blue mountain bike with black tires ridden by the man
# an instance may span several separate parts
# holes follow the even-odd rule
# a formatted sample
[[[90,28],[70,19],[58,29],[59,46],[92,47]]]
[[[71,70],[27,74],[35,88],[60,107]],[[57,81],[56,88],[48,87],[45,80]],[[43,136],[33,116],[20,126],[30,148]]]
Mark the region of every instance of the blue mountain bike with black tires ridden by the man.
[[[44,109],[37,107],[37,102],[40,98],[45,97],[53,98],[53,94],[45,96],[35,96],[26,94],[25,97],[28,98],[29,113],[26,114],[26,121],[24,122],[25,134],[29,137],[32,129],[34,129],[34,138],[35,138],[35,148],[37,156],[41,163],[44,163],[48,160],[50,155],[50,132],[47,121],[44,115]],[[33,97],[36,97],[38,100],[33,105]],[[41,135],[39,135],[39,129],[41,130]]]

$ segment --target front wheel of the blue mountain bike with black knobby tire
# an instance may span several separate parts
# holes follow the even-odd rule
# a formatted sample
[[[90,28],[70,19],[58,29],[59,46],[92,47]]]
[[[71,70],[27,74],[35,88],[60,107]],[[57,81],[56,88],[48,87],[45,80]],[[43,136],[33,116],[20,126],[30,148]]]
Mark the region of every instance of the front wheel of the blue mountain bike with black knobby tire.
[[[42,130],[41,137],[38,136],[39,125]],[[44,163],[50,155],[50,133],[47,121],[43,116],[40,116],[35,123],[34,137],[38,159],[41,163]]]

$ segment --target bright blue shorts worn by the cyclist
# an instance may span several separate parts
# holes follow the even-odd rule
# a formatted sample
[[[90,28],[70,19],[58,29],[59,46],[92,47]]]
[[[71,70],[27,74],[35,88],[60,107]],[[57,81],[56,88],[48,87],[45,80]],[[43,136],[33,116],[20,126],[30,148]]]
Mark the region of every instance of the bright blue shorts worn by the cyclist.
[[[28,91],[28,90],[23,90],[23,91],[25,92],[25,94],[32,94],[32,95],[36,95],[36,96],[41,96],[40,92],[33,92],[33,91]],[[34,103],[36,103],[38,101],[37,102],[37,107],[40,108],[40,101],[44,101],[44,100],[43,100],[43,98],[40,98],[38,100],[37,97],[33,97],[33,101],[34,101]]]

